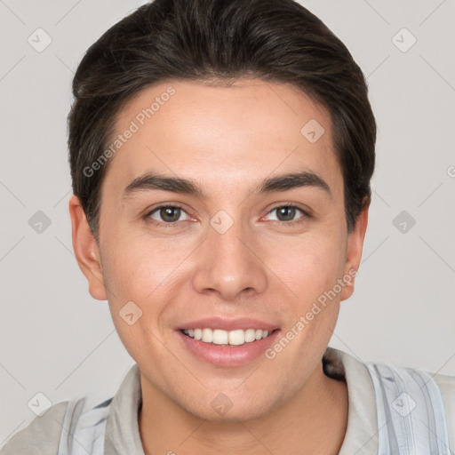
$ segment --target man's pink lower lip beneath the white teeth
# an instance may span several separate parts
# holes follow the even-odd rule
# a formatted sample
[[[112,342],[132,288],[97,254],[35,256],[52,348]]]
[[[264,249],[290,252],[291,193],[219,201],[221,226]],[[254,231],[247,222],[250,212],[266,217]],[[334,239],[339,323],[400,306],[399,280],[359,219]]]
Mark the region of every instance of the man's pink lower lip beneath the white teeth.
[[[241,346],[221,346],[213,343],[204,343],[188,337],[181,331],[176,331],[177,336],[188,349],[200,359],[213,365],[224,367],[242,366],[256,360],[260,355],[275,343],[279,330],[275,330],[267,338],[257,339]]]

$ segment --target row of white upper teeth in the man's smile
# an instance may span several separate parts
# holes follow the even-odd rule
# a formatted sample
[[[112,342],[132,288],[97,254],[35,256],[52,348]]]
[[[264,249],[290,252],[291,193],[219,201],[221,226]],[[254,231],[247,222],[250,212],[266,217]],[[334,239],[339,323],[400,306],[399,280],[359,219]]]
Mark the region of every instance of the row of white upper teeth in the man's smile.
[[[236,331],[222,331],[220,329],[188,329],[184,330],[183,333],[188,337],[196,340],[201,340],[204,343],[213,343],[215,345],[231,345],[241,346],[245,343],[251,343],[257,339],[267,338],[270,334],[269,331],[242,329]]]

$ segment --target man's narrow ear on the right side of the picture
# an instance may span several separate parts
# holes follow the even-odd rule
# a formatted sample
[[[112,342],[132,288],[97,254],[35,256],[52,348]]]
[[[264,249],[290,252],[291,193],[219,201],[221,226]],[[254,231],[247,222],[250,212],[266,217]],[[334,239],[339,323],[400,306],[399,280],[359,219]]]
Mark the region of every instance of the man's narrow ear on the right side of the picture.
[[[368,224],[369,208],[370,203],[366,204],[363,211],[357,216],[355,220],[355,227],[347,237],[346,263],[344,272],[347,285],[343,287],[340,293],[340,301],[348,299],[354,292],[355,275],[357,275],[357,270],[360,267],[360,259],[362,259],[363,240],[365,238],[366,227]]]

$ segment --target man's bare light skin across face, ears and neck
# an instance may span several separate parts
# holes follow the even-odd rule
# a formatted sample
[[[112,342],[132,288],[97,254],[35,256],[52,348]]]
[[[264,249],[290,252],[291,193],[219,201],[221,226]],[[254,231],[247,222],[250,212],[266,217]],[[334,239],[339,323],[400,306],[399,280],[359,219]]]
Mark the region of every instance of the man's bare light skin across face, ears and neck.
[[[78,198],[69,203],[89,291],[108,299],[116,330],[140,367],[144,451],[336,454],[347,427],[347,386],[323,374],[321,359],[354,280],[272,360],[260,355],[241,367],[215,366],[189,352],[175,332],[183,322],[221,315],[276,323],[285,334],[324,291],[358,269],[368,208],[347,234],[331,117],[289,84],[170,81],[131,100],[116,132],[170,85],[171,100],[111,158],[100,244]],[[314,144],[300,133],[310,119],[325,130]],[[331,195],[309,186],[252,191],[263,179],[308,170]],[[124,188],[148,171],[196,180],[207,196],[149,189],[124,198]],[[173,227],[159,210],[145,217],[164,203],[184,210]],[[274,210],[289,204],[312,215],[297,210],[291,220],[300,222],[289,225]],[[234,220],[222,235],[209,223],[220,210]],[[128,301],[142,311],[132,325],[118,314]],[[223,416],[211,406],[221,392],[233,403]]]

